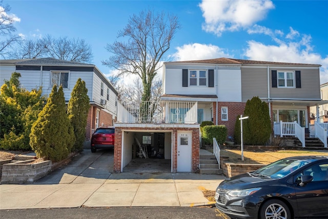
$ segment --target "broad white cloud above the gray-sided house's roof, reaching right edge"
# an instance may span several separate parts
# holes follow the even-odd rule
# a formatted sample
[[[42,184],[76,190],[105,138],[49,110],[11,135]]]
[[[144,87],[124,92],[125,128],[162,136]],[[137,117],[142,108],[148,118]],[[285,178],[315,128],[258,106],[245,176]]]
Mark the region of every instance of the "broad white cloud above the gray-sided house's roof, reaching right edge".
[[[258,61],[319,64],[322,66],[320,68],[320,83],[328,82],[328,55],[322,57],[313,52],[310,35],[300,34],[290,28],[290,33],[286,34],[284,38],[278,39],[275,34],[272,37],[276,38],[277,45],[265,45],[261,42],[249,41],[244,55],[249,59]]]

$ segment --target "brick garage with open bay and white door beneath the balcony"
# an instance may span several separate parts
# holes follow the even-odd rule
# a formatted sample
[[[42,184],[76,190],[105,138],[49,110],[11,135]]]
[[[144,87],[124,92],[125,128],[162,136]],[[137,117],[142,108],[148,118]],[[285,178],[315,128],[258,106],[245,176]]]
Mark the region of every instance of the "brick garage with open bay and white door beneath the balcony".
[[[115,124],[114,172],[197,172],[199,124]]]

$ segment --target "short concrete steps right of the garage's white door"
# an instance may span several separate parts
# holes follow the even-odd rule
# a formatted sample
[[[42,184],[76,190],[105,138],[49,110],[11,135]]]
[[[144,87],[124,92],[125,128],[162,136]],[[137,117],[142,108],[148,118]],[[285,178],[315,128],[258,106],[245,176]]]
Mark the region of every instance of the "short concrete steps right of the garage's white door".
[[[200,174],[220,174],[221,171],[214,154],[206,150],[200,152],[199,172]]]

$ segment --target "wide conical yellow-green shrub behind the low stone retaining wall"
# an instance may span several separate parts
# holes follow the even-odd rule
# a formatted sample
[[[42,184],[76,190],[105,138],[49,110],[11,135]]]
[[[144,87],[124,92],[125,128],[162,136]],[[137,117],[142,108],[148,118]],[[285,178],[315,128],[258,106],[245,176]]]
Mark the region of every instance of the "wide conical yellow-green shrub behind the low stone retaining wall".
[[[73,127],[66,114],[63,87],[55,85],[48,102],[38,114],[30,134],[30,146],[37,157],[53,162],[65,159],[75,142]]]

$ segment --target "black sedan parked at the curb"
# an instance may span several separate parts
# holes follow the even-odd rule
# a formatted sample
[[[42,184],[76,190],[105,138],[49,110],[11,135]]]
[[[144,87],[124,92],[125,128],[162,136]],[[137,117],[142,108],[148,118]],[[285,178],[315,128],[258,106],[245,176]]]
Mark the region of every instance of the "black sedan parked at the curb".
[[[215,200],[231,218],[328,218],[328,156],[288,157],[231,177]]]

